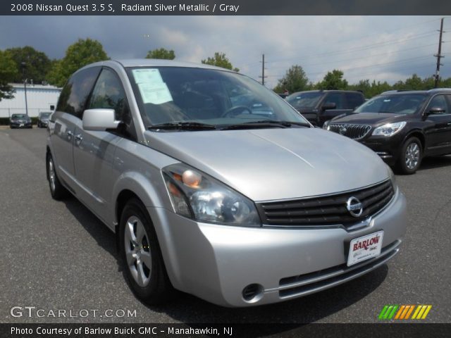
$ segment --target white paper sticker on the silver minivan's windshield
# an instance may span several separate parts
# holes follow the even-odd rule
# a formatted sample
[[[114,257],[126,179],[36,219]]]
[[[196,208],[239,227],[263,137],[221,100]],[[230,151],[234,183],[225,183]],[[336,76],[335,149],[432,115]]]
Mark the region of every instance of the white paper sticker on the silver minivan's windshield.
[[[132,73],[144,104],[164,104],[173,101],[171,92],[163,82],[158,69],[134,69]]]

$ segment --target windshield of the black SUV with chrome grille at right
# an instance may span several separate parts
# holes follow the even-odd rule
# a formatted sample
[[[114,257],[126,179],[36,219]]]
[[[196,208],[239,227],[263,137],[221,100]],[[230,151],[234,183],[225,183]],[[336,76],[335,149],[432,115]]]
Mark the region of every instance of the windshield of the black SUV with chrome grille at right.
[[[425,94],[381,95],[366,101],[354,113],[413,114],[421,108],[425,100]]]

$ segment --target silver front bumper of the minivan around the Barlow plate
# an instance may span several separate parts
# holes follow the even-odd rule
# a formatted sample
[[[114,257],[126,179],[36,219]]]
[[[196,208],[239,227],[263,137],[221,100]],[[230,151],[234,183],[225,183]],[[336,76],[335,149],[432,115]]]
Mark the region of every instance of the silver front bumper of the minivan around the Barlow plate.
[[[395,256],[407,223],[399,189],[367,227],[353,232],[212,225],[164,208],[148,210],[173,286],[221,306],[276,303],[364,275]],[[346,245],[378,230],[384,231],[381,255],[347,267]],[[258,294],[245,300],[242,292],[250,284]]]

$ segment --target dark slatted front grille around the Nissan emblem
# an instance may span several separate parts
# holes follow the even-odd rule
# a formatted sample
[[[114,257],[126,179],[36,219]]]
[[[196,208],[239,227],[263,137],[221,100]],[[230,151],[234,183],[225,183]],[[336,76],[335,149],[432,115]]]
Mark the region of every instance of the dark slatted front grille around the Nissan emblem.
[[[394,195],[393,184],[386,180],[371,187],[331,196],[318,196],[290,201],[257,204],[264,225],[277,227],[318,227],[343,225],[350,227],[378,213]],[[359,217],[347,210],[350,197],[359,199],[363,212]]]

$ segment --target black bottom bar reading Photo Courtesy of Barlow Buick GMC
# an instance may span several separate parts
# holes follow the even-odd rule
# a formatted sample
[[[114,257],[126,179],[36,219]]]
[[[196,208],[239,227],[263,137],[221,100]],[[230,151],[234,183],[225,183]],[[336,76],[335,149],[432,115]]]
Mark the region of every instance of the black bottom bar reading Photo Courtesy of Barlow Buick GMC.
[[[451,324],[0,324],[1,338],[450,337]]]

